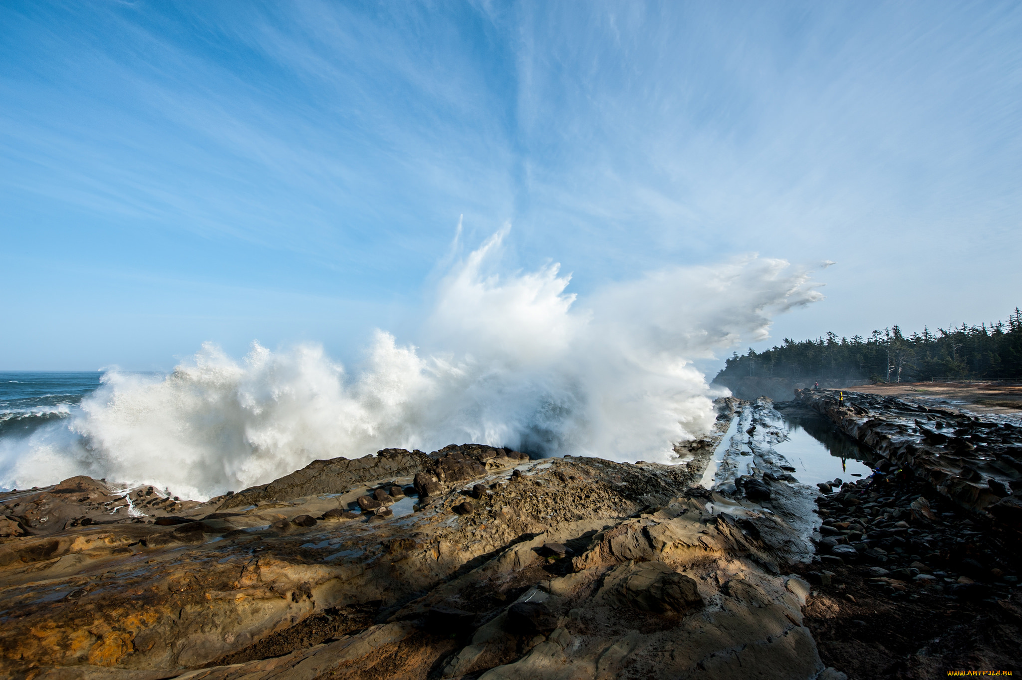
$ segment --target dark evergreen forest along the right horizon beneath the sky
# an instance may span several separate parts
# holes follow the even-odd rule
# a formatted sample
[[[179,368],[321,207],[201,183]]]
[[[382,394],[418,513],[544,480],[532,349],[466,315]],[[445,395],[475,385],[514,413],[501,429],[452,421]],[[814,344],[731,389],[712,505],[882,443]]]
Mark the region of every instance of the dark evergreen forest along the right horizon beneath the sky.
[[[1022,311],[1007,322],[904,335],[892,326],[869,336],[838,337],[781,345],[762,352],[735,352],[716,379],[790,378],[920,382],[927,380],[1022,380]]]

